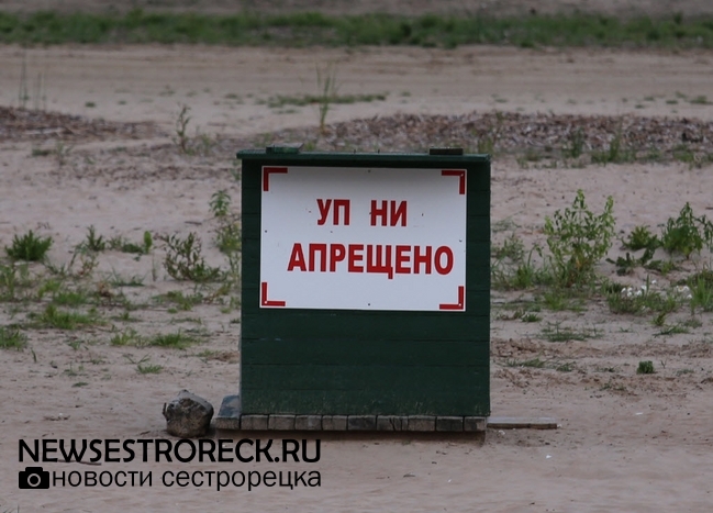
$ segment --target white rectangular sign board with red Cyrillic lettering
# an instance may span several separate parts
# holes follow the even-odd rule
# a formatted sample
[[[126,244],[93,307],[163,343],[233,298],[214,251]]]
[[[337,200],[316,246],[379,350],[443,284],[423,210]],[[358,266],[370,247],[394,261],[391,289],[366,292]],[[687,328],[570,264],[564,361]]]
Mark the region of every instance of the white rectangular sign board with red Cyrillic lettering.
[[[263,167],[260,306],[465,311],[464,169]]]

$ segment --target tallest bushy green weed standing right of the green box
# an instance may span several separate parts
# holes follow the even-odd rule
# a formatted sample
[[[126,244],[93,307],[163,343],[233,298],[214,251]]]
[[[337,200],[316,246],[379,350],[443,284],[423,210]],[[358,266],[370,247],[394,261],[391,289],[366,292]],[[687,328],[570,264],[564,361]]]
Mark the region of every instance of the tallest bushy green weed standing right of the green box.
[[[571,209],[559,210],[545,220],[547,246],[559,283],[582,285],[593,276],[594,266],[612,247],[614,200],[606,199],[604,211],[595,215],[587,208],[584,192],[577,191]]]

